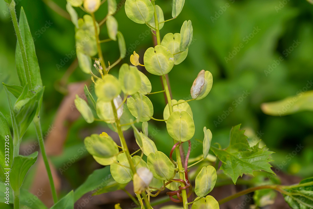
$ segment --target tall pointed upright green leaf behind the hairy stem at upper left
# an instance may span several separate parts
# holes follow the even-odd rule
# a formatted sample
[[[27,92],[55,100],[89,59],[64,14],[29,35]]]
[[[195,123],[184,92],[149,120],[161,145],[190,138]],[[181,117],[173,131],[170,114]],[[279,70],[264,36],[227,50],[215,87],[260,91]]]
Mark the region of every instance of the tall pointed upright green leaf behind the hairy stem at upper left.
[[[38,91],[39,88],[42,88],[42,81],[33,36],[30,32],[23,7],[21,8],[18,25],[21,31],[22,40],[26,51],[27,64],[29,68],[29,71],[28,69],[24,68],[21,49],[17,41],[15,50],[15,62],[16,69],[18,71],[18,78],[21,82],[21,86],[25,86],[25,84],[27,83],[26,76],[29,76],[30,77],[30,83],[28,83],[29,89],[33,91]]]

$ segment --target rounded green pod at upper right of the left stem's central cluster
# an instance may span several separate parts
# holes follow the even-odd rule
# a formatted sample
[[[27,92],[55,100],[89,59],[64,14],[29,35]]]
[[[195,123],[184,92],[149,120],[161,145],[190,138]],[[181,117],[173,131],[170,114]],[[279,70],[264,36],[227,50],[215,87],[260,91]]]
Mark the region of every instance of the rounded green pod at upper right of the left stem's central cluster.
[[[122,64],[118,78],[124,94],[132,95],[139,91],[141,87],[141,78],[137,67],[129,66],[126,63]]]

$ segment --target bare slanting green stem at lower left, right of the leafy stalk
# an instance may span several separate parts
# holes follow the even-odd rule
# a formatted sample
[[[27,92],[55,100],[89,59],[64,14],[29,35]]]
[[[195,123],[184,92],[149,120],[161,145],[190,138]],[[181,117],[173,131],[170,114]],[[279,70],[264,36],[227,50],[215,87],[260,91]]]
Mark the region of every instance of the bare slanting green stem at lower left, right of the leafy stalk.
[[[39,147],[41,150],[42,158],[44,159],[44,165],[46,167],[48,177],[49,177],[53,201],[54,201],[54,203],[56,203],[58,201],[57,192],[56,192],[55,187],[54,187],[51,169],[50,169],[47,154],[46,154],[46,151],[44,148],[44,140],[42,137],[41,125],[40,125],[40,120],[38,117],[36,117],[36,119],[34,119],[34,124],[35,124],[35,129],[36,129],[36,133],[37,133],[37,137],[38,137],[38,141],[39,141]]]

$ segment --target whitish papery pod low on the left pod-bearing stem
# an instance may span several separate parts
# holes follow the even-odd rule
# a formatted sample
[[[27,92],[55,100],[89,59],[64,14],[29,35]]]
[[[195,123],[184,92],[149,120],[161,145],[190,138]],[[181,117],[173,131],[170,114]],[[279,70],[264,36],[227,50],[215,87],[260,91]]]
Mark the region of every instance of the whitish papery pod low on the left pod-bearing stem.
[[[149,188],[149,184],[153,179],[153,174],[146,167],[137,169],[137,173],[134,174],[134,192],[141,194]]]

